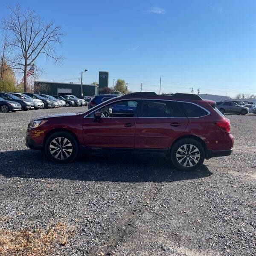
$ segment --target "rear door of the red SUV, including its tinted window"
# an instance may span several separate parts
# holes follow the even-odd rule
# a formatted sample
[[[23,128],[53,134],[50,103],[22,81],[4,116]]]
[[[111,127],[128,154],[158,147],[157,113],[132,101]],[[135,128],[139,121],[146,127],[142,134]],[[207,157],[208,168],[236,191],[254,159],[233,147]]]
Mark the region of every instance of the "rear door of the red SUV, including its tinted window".
[[[167,150],[187,127],[176,101],[143,100],[135,130],[135,148]]]

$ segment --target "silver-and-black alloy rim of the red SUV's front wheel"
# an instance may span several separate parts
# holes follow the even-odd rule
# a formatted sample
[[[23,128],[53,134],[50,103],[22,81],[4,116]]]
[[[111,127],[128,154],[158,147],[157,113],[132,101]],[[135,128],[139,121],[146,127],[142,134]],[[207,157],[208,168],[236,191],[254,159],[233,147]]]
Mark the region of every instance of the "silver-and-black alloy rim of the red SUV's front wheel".
[[[51,141],[49,150],[53,157],[64,160],[72,154],[73,146],[67,138],[56,137]]]

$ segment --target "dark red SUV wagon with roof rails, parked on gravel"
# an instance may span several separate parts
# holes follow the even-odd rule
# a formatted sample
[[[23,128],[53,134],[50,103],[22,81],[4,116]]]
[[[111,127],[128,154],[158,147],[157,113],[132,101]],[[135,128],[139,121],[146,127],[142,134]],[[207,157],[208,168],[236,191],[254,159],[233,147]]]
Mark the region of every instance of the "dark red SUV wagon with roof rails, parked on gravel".
[[[130,93],[87,112],[32,120],[26,145],[66,163],[82,150],[161,153],[180,170],[195,170],[204,159],[230,155],[230,120],[215,102],[195,94]]]

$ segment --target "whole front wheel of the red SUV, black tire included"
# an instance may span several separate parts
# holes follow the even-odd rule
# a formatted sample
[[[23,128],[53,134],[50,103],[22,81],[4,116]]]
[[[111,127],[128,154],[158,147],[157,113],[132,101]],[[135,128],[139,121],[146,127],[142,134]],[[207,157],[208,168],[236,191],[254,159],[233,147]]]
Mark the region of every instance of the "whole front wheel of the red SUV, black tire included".
[[[79,152],[79,145],[72,134],[60,131],[49,136],[44,149],[47,157],[53,162],[69,163],[76,159]],[[62,157],[64,158],[61,159]]]

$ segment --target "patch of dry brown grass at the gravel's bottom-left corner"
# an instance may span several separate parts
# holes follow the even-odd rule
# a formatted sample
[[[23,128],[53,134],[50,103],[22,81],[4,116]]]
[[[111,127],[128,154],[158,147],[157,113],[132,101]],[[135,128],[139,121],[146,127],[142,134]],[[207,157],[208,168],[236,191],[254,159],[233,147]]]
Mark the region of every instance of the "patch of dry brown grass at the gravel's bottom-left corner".
[[[0,255],[52,255],[55,247],[65,246],[74,230],[66,223],[49,225],[45,229],[25,228],[19,231],[0,229]]]

